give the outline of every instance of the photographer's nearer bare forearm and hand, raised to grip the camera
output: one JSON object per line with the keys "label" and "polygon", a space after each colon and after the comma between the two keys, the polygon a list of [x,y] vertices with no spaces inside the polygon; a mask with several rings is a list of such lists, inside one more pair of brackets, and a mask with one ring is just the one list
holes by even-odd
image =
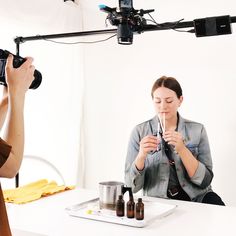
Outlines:
{"label": "photographer's nearer bare forearm and hand, raised to grip the camera", "polygon": [[13,56],[6,64],[6,82],[8,85],[8,114],[4,140],[12,146],[10,155],[0,168],[1,177],[14,177],[21,165],[24,151],[24,102],[25,93],[33,81],[34,66],[32,58],[19,68],[13,68]]}

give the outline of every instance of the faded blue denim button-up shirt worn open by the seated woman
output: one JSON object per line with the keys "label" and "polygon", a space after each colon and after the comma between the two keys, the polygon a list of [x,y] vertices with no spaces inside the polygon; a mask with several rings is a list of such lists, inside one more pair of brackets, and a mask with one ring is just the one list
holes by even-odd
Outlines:
{"label": "faded blue denim button-up shirt worn open by the seated woman", "polygon": [[[134,193],[142,189],[144,195],[167,198],[170,166],[163,148],[147,155],[142,171],[139,171],[134,164],[141,139],[147,135],[157,134],[157,122],[157,117],[154,117],[133,129],[125,163],[125,183],[132,187]],[[186,147],[199,161],[194,176],[190,178],[179,155],[172,148],[178,181],[192,201],[201,202],[204,195],[212,191],[210,185],[213,178],[212,159],[207,133],[202,124],[181,116],[179,116],[178,132],[182,134]]]}

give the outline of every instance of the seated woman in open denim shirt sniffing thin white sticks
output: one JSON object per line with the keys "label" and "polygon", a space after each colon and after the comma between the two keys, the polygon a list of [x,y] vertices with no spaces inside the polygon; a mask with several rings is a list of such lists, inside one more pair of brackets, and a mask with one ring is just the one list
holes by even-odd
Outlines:
{"label": "seated woman in open denim shirt sniffing thin white sticks", "polygon": [[157,115],[131,134],[126,184],[151,197],[225,205],[211,188],[212,159],[204,126],[178,113],[183,101],[178,81],[159,78],[151,95]]}

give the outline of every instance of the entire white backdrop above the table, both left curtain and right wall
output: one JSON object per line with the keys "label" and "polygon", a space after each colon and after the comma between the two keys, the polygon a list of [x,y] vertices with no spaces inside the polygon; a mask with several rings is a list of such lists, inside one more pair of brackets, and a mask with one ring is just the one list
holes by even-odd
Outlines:
{"label": "entire white backdrop above the table, both left curtain and right wall", "polygon": [[[98,0],[80,0],[79,7],[56,0],[0,2],[0,27],[5,27],[1,48],[9,50],[14,50],[10,40],[16,35],[105,28],[106,14],[98,10]],[[118,0],[102,3],[114,7]],[[159,23],[236,15],[233,0],[134,0],[134,7],[155,9],[152,16]],[[148,32],[135,35],[132,46],[118,45],[116,38],[84,46],[23,44],[22,53],[33,55],[44,74],[42,87],[27,100],[26,152],[49,159],[67,182],[97,189],[99,181],[122,181],[130,132],[154,115],[152,84],[162,75],[174,76],[183,87],[182,116],[202,122],[208,131],[213,188],[226,204],[236,206],[234,24],[232,29],[232,35],[204,38],[173,30]]]}

